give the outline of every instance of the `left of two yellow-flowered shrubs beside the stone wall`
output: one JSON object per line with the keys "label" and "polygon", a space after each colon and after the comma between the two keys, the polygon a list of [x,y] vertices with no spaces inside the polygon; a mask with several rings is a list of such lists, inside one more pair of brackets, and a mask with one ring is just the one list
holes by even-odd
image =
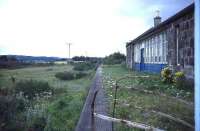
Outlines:
{"label": "left of two yellow-flowered shrubs beside the stone wall", "polygon": [[169,69],[169,67],[166,67],[161,71],[161,77],[162,77],[163,82],[166,82],[166,83],[173,82],[172,71]]}

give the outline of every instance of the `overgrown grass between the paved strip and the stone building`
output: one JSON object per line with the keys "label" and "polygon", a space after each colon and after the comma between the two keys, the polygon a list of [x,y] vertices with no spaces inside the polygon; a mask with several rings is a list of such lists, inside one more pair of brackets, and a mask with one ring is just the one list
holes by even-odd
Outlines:
{"label": "overgrown grass between the paved strip and the stone building", "polygon": [[[164,84],[159,74],[131,71],[121,65],[103,66],[103,83],[110,101],[110,115],[113,111],[116,80],[124,76],[144,75],[150,77],[126,78],[119,82],[115,117],[167,131],[194,130],[158,113],[162,112],[194,126],[194,106],[191,104],[194,92],[191,87],[177,89],[173,84]],[[124,124],[114,124],[114,127],[120,131],[137,130]]]}

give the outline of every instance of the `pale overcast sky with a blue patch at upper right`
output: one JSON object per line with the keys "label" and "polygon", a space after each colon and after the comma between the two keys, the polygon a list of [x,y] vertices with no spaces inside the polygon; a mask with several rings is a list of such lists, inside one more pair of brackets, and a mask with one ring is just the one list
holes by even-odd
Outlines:
{"label": "pale overcast sky with a blue patch at upper right", "polygon": [[193,0],[0,0],[0,55],[104,57]]}

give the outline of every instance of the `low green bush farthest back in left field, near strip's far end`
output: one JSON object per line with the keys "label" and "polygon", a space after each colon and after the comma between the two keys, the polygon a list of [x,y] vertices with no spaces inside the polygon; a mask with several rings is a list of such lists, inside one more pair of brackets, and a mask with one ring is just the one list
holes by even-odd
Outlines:
{"label": "low green bush farthest back in left field, near strip's far end", "polygon": [[95,68],[95,64],[91,62],[81,62],[81,63],[74,63],[74,70],[76,71],[87,71]]}

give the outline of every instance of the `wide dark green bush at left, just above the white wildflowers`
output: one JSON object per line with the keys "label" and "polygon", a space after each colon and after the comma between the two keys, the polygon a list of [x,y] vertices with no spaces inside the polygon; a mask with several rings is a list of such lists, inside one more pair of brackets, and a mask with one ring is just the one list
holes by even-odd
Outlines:
{"label": "wide dark green bush at left, just above the white wildflowers", "polygon": [[15,93],[22,95],[29,100],[39,96],[45,96],[47,94],[52,94],[52,88],[49,86],[48,82],[35,81],[35,80],[26,80],[20,81],[15,86]]}

